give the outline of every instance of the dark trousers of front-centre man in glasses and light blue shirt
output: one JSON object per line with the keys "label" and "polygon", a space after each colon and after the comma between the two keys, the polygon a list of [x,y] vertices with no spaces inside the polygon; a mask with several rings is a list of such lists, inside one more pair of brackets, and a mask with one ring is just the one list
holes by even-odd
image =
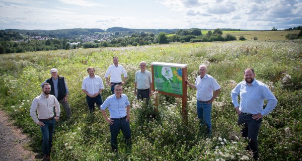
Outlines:
{"label": "dark trousers of front-centre man in glasses and light blue shirt", "polygon": [[126,120],[126,118],[112,119],[112,120],[114,120],[113,125],[109,125],[110,133],[111,133],[112,151],[117,152],[117,135],[120,130],[122,130],[122,133],[125,137],[126,147],[130,147],[131,146],[131,130],[130,130],[129,122]]}

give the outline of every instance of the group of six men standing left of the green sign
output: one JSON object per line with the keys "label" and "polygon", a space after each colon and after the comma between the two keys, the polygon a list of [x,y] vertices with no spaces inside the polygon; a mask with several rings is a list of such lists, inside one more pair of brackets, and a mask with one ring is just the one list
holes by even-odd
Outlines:
{"label": "group of six men standing left of the green sign", "polygon": [[[152,95],[152,76],[146,70],[146,62],[139,63],[140,69],[135,74],[135,92],[137,99],[148,100]],[[130,130],[130,103],[128,97],[122,94],[122,85],[127,80],[127,72],[122,65],[118,64],[118,57],[113,57],[113,64],[110,65],[105,73],[107,85],[110,87],[112,95],[103,103],[101,93],[104,90],[102,78],[95,75],[95,69],[87,69],[88,76],[83,79],[82,91],[86,94],[87,104],[90,112],[95,111],[95,104],[100,107],[106,122],[108,122],[111,132],[112,150],[117,152],[117,136],[121,130],[125,136],[127,147],[131,145]],[[60,117],[60,105],[64,107],[67,120],[71,117],[71,109],[68,104],[68,87],[65,78],[58,75],[56,68],[50,69],[51,77],[41,84],[42,94],[36,97],[30,109],[30,116],[34,122],[40,126],[43,138],[43,160],[50,160],[52,146],[52,135],[55,129],[55,121]],[[122,82],[121,74],[124,75]],[[110,75],[110,82],[108,76]],[[136,92],[137,90],[137,92]],[[106,108],[109,109],[110,118],[106,115]],[[54,113],[55,111],[55,113]],[[38,117],[36,115],[38,113]]]}

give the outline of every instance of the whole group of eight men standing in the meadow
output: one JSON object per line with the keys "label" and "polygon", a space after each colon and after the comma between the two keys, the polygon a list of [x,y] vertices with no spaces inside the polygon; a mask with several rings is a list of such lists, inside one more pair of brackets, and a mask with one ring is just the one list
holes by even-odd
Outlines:
{"label": "whole group of eight men standing in the meadow", "polygon": [[[95,75],[93,67],[87,69],[89,75],[83,80],[82,91],[86,94],[90,112],[94,112],[95,104],[100,108],[104,119],[109,124],[112,150],[117,152],[117,136],[120,130],[125,137],[126,147],[131,146],[130,103],[128,97],[123,94],[122,88],[127,80],[127,72],[122,65],[118,64],[117,56],[113,57],[113,63],[105,73],[106,83],[110,86],[112,95],[104,103],[101,96],[104,89],[103,81],[100,76]],[[135,73],[134,95],[141,100],[148,100],[152,96],[152,73],[146,70],[146,65],[146,62],[141,61],[139,63],[140,70]],[[50,70],[52,77],[41,85],[42,94],[33,100],[30,109],[31,117],[41,128],[43,159],[45,160],[50,159],[55,121],[58,121],[60,116],[59,104],[64,107],[67,119],[71,117],[71,110],[67,102],[69,91],[64,77],[58,76],[57,72],[55,68]],[[124,75],[123,81],[121,74]],[[187,80],[185,82],[197,91],[197,116],[200,125],[205,124],[206,133],[211,136],[211,106],[220,92],[220,86],[215,78],[207,74],[207,67],[204,64],[199,66],[199,75],[196,77],[194,85]],[[262,118],[275,108],[277,100],[263,83],[256,81],[255,72],[252,68],[244,70],[244,81],[232,90],[231,95],[232,102],[239,115],[238,124],[244,125],[242,135],[250,139],[247,148],[252,150],[254,159],[257,159],[257,136]],[[240,95],[240,104],[238,103],[238,95]],[[263,109],[264,99],[268,101],[265,109]],[[110,117],[105,112],[106,108],[109,110]]]}

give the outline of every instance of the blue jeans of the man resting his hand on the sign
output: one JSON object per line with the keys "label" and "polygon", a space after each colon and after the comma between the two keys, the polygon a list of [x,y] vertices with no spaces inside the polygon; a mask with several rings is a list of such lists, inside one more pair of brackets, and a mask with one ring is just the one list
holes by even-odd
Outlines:
{"label": "blue jeans of the man resting his hand on the sign", "polygon": [[212,104],[201,103],[197,101],[197,117],[200,120],[200,125],[206,124],[207,134],[210,136],[212,131],[212,122],[211,122],[211,109]]}

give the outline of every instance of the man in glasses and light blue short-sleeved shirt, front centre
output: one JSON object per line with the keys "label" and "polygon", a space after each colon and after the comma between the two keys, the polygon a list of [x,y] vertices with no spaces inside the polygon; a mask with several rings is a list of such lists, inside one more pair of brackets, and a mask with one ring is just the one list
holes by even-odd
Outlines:
{"label": "man in glasses and light blue short-sleeved shirt, front centre", "polygon": [[[123,93],[121,85],[114,86],[114,94],[107,97],[104,103],[100,106],[100,110],[109,124],[111,133],[112,151],[117,152],[117,135],[122,130],[125,137],[126,148],[131,146],[131,130],[130,130],[130,103],[128,97]],[[110,118],[105,112],[109,110]]]}

